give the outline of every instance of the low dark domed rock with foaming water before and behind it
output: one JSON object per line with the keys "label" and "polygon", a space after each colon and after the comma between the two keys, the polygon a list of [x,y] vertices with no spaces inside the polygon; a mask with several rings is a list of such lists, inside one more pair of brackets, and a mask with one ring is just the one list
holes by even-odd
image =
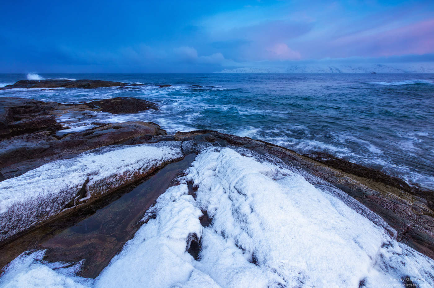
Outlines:
{"label": "low dark domed rock with foaming water before and behind it", "polygon": [[137,113],[149,109],[158,110],[158,107],[155,103],[131,97],[116,97],[112,99],[103,99],[92,101],[89,103],[82,103],[81,105],[85,105],[95,110],[109,112],[113,114]]}

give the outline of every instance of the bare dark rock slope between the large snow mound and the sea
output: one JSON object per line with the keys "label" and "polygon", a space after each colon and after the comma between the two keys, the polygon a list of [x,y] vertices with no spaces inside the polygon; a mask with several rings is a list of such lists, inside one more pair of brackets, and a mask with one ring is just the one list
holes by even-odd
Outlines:
{"label": "bare dark rock slope between the large snow mound and the sea", "polygon": [[266,159],[271,157],[276,165],[297,168],[311,184],[319,185],[321,189],[325,184],[331,184],[335,188],[327,188],[330,193],[343,191],[354,197],[395,229],[398,241],[434,259],[434,209],[430,204],[434,191],[410,187],[400,179],[342,159],[322,155],[318,158],[321,162],[318,162],[284,147],[248,137],[198,130],[178,132],[175,140],[183,142],[184,153],[197,152],[195,147],[210,143],[213,146],[240,147]]}

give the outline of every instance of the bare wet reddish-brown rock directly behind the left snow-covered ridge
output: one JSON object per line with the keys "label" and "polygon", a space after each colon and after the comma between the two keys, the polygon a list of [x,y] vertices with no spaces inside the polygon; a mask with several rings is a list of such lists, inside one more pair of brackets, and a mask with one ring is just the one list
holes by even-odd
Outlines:
{"label": "bare wet reddish-brown rock directly behind the left snow-covered ridge", "polygon": [[[166,131],[160,129],[157,124],[141,121],[109,124],[71,133],[60,140],[44,133],[23,134],[0,141],[0,168],[9,167],[9,171],[12,170],[11,173],[3,170],[7,178],[10,178],[9,174],[16,177],[46,162],[53,161],[52,156],[64,158],[90,149],[125,142],[142,135],[165,134]],[[19,170],[15,171],[16,168]]]}

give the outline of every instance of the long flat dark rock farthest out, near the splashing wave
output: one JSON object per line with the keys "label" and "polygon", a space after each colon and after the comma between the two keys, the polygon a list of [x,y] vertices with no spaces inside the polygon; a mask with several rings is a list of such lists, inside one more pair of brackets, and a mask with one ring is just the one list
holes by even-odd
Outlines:
{"label": "long flat dark rock farthest out, near the splashing wave", "polygon": [[6,85],[5,88],[98,88],[127,85],[128,83],[103,81],[103,80],[67,80],[67,79],[46,79],[46,80],[20,80],[15,84]]}

